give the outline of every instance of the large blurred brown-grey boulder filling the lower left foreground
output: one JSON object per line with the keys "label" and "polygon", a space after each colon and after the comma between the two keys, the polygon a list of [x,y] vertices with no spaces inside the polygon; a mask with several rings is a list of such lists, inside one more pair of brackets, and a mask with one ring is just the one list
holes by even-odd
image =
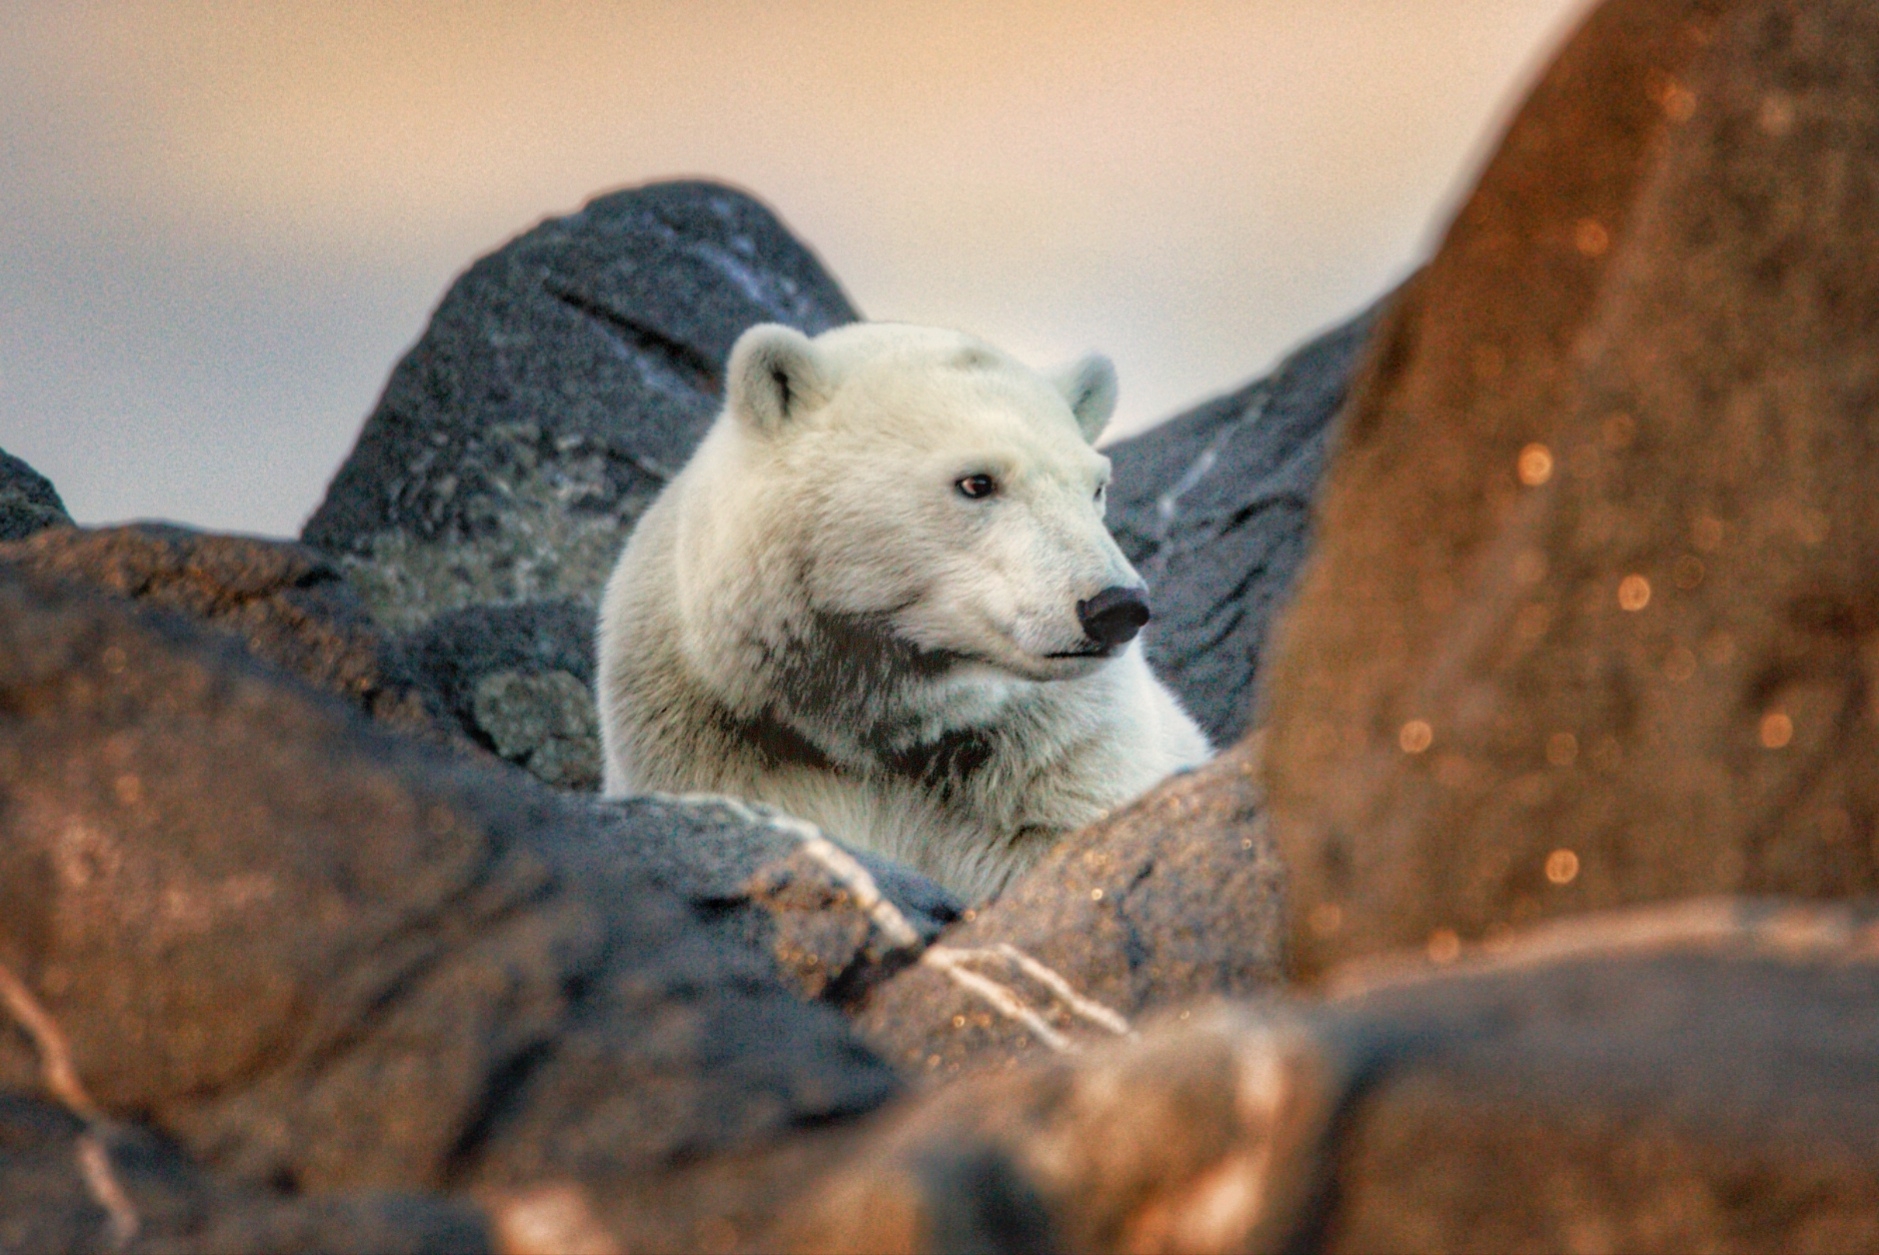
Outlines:
{"label": "large blurred brown-grey boulder filling the lower left foreground", "polygon": [[[896,1092],[661,885],[656,812],[598,832],[605,804],[186,620],[0,569],[0,968],[88,1103],[233,1185],[447,1191],[507,1249],[695,1247],[770,1223]],[[0,1033],[0,1090],[47,1060]]]}

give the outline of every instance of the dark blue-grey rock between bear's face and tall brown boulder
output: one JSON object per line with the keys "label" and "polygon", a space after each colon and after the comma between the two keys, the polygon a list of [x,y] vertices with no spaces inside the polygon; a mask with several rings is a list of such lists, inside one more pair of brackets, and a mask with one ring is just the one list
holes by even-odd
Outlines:
{"label": "dark blue-grey rock between bear's face and tall brown boulder", "polygon": [[1109,528],[1154,594],[1148,659],[1214,744],[1253,714],[1274,614],[1304,562],[1345,383],[1377,310],[1265,380],[1109,449]]}

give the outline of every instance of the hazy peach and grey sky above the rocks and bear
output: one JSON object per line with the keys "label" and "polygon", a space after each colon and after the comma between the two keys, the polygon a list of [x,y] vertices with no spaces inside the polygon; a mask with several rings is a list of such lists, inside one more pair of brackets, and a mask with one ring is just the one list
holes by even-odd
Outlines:
{"label": "hazy peach and grey sky above the rocks and bear", "polygon": [[703,175],[1137,428],[1434,244],[1584,0],[0,0],[0,447],[289,535],[474,257]]}

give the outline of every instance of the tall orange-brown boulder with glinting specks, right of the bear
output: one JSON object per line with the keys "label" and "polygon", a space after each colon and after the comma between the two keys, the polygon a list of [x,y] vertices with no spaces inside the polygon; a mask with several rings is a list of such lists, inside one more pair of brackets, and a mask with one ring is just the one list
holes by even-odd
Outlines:
{"label": "tall orange-brown boulder with glinting specks, right of the bear", "polygon": [[1375,334],[1268,678],[1291,962],[1879,887],[1879,13],[1612,0]]}

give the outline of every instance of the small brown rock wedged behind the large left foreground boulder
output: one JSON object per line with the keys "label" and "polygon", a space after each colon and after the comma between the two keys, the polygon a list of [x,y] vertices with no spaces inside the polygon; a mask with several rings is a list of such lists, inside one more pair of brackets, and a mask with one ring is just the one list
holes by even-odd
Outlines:
{"label": "small brown rock wedged behind the large left foreground boulder", "polygon": [[143,522],[41,532],[0,545],[0,564],[186,614],[380,723],[432,740],[451,735],[396,643],[304,545]]}

